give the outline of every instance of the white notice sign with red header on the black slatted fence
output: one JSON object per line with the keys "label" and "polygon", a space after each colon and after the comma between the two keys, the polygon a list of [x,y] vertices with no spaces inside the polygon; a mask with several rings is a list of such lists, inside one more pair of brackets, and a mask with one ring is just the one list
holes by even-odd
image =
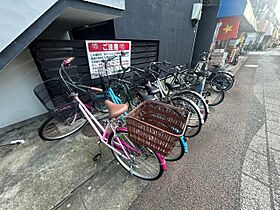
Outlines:
{"label": "white notice sign with red header on the black slatted fence", "polygon": [[[127,68],[130,66],[131,59],[131,42],[130,41],[90,41],[86,40],[87,56],[91,78],[98,78],[100,75],[117,74],[121,71],[119,56],[123,51],[125,53],[122,56],[122,65]],[[113,56],[117,56],[112,61],[107,63],[107,69],[105,69],[102,60],[107,60]]]}

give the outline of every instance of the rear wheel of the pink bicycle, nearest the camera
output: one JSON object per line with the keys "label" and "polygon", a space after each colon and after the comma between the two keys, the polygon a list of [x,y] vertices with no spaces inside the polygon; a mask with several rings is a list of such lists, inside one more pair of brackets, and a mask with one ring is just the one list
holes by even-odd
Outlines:
{"label": "rear wheel of the pink bicycle, nearest the camera", "polygon": [[116,130],[115,135],[113,133],[110,135],[108,143],[124,156],[125,152],[129,155],[129,159],[126,159],[112,150],[116,160],[132,175],[149,181],[162,176],[163,167],[159,155],[133,143],[129,140],[127,131]]}

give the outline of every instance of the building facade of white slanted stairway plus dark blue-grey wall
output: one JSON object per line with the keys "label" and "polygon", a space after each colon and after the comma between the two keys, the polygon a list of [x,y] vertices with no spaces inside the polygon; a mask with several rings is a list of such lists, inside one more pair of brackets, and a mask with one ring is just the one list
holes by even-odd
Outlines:
{"label": "building facade of white slanted stairway plus dark blue-grey wall", "polygon": [[184,64],[201,38],[191,20],[194,3],[200,0],[1,2],[0,25],[13,29],[0,35],[0,128],[46,112],[32,92],[42,82],[28,48],[34,40],[157,40],[159,60]]}

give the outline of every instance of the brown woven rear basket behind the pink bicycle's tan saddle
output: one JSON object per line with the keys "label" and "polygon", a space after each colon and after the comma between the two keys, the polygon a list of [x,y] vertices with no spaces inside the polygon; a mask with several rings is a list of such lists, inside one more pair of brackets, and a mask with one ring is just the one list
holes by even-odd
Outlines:
{"label": "brown woven rear basket behind the pink bicycle's tan saddle", "polygon": [[126,116],[128,136],[168,156],[185,133],[189,112],[158,101],[144,101]]}

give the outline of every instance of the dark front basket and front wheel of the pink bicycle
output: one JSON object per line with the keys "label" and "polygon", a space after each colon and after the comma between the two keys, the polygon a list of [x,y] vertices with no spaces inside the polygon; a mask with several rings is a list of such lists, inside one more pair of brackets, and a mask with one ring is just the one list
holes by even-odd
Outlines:
{"label": "dark front basket and front wheel of the pink bicycle", "polygon": [[[48,110],[49,117],[38,130],[39,137],[45,141],[60,140],[80,130],[86,119],[78,110],[77,103],[65,93],[62,81],[47,80],[34,88],[34,94]],[[92,108],[85,104],[92,110]]]}

